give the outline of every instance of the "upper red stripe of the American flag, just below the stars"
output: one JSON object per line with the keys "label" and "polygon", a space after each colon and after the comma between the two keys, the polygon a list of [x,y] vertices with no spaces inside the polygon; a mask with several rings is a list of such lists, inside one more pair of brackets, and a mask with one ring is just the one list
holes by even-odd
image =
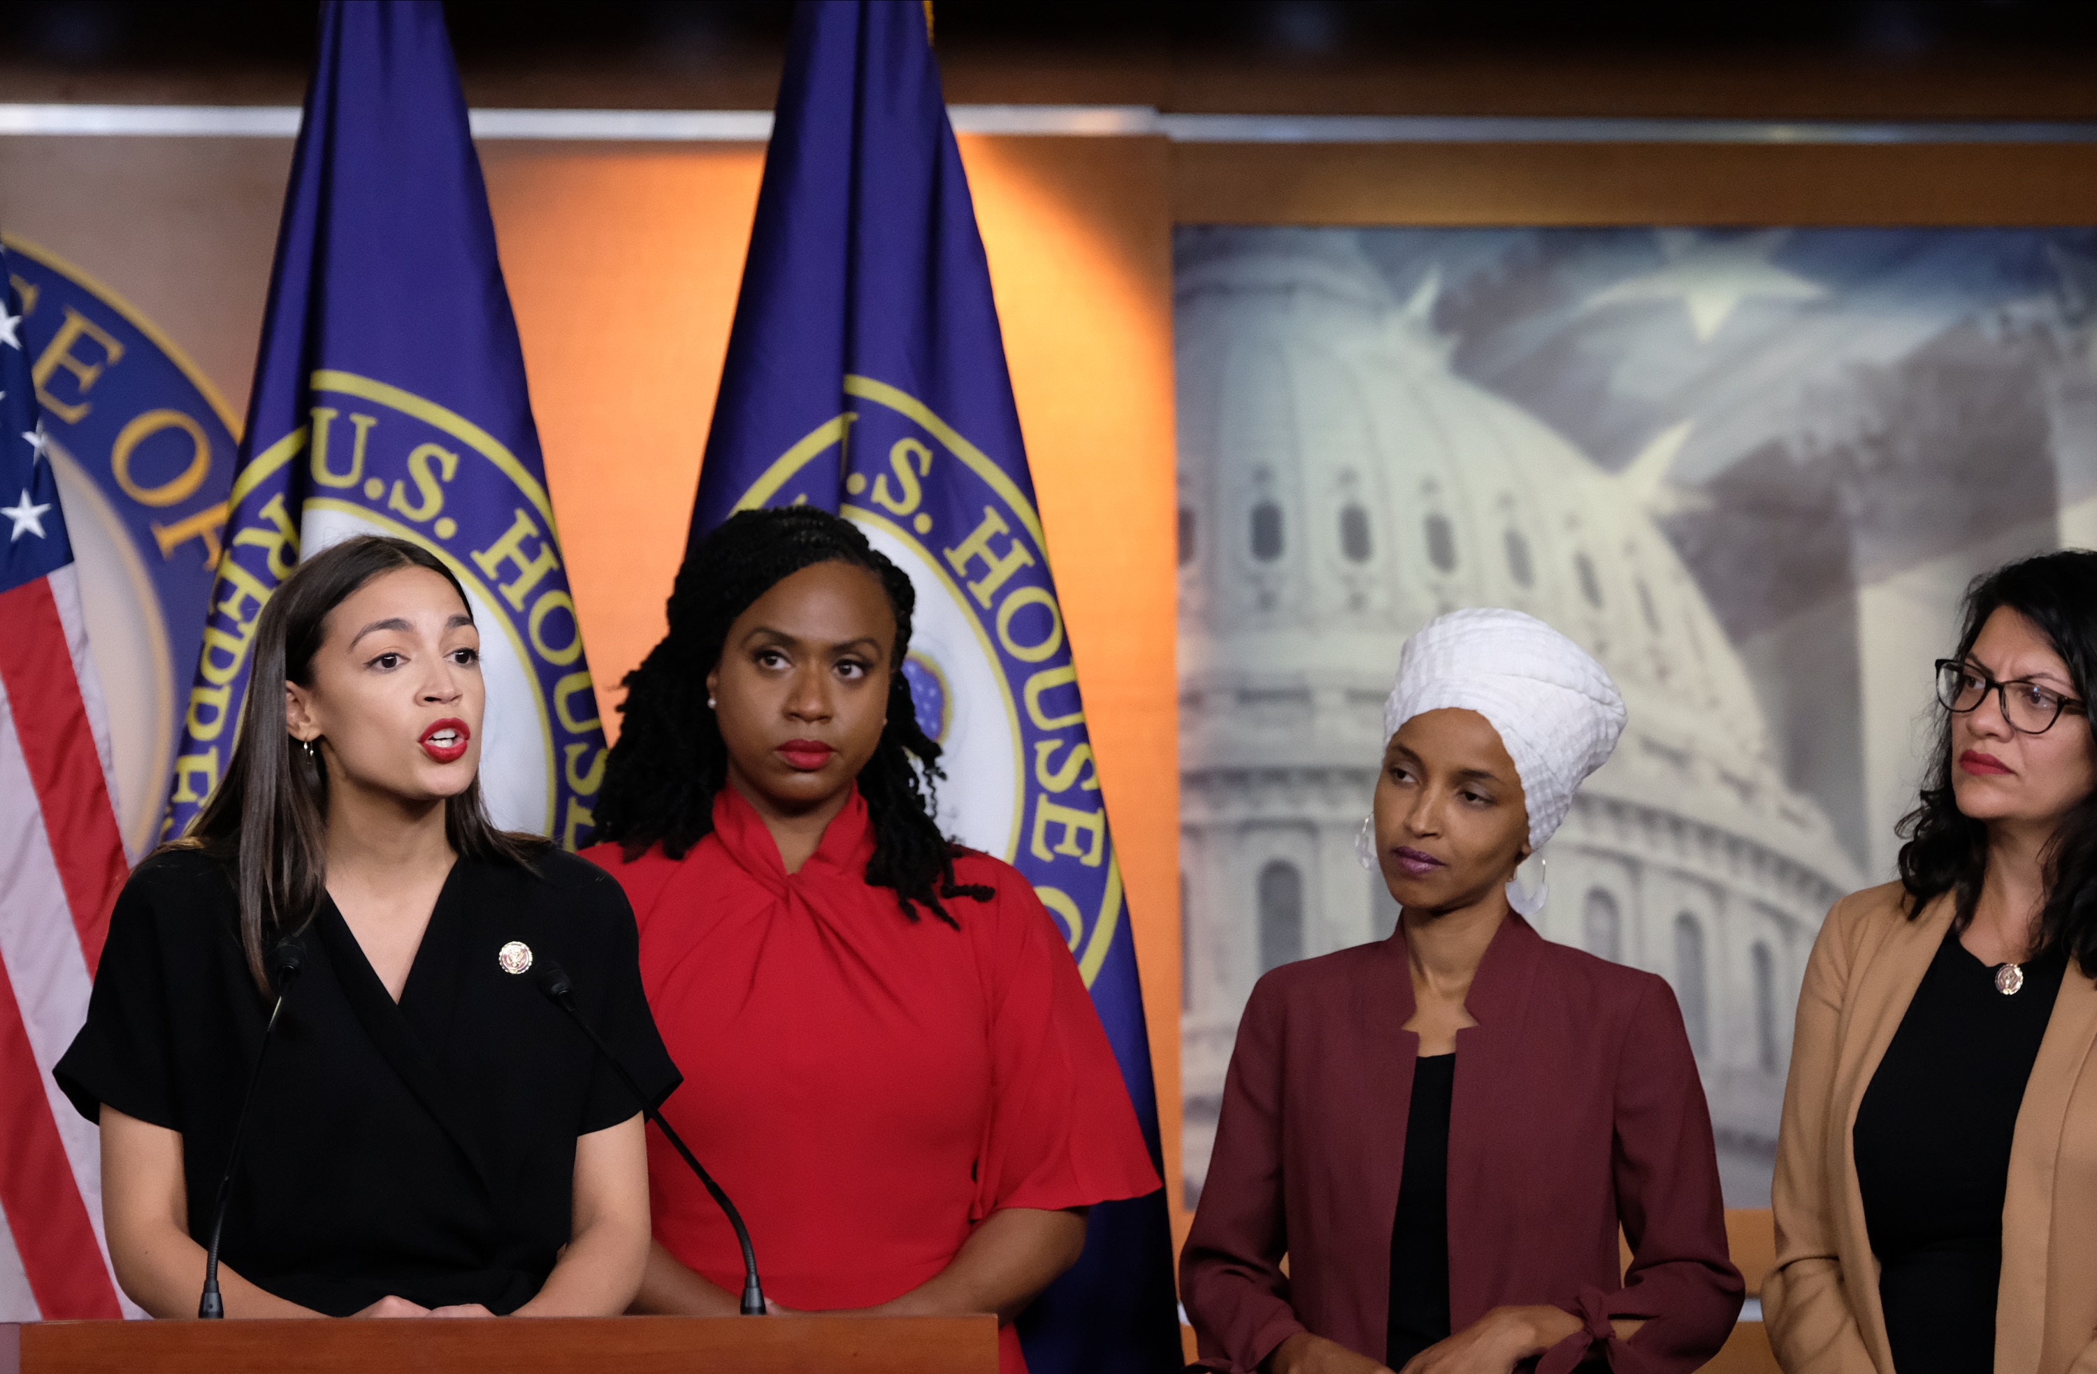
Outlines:
{"label": "upper red stripe of the American flag, just below the stars", "polygon": [[73,908],[80,952],[88,959],[88,973],[94,973],[103,961],[103,936],[109,933],[109,908],[130,877],[130,864],[109,803],[103,755],[88,726],[88,705],[73,675],[65,621],[44,577],[0,592],[0,684],[6,686],[15,734],[36,782],[44,835],[59,860],[65,904]]}

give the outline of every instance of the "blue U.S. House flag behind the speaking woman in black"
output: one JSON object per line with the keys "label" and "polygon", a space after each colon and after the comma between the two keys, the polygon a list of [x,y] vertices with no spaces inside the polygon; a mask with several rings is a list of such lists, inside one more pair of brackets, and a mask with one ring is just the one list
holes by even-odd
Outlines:
{"label": "blue U.S. House flag behind the speaking woman in black", "polygon": [[226,766],[262,604],[359,533],[421,543],[468,589],[495,824],[589,843],[604,732],[436,0],[321,10],[166,833]]}

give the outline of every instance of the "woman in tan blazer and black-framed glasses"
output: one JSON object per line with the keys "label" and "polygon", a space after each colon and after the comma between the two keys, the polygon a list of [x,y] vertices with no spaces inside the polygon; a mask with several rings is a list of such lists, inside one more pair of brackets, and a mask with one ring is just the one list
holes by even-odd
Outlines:
{"label": "woman in tan blazer and black-framed glasses", "polygon": [[2097,554],[1967,594],[1900,881],[1799,992],[1761,1288],[1789,1374],[2097,1370]]}

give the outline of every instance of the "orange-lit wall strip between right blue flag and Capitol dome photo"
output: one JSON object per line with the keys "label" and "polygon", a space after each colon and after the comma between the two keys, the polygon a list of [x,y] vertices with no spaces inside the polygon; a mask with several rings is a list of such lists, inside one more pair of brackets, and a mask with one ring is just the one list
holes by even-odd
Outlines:
{"label": "orange-lit wall strip between right blue flag and Capitol dome photo", "polygon": [[960,151],[1128,881],[1166,1196],[1183,1223],[1168,149],[1164,138],[963,138]]}

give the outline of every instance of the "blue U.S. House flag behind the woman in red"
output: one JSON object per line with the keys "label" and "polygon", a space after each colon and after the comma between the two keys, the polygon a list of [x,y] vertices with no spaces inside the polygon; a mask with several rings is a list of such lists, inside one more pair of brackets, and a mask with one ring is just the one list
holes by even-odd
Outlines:
{"label": "blue U.S. House flag behind the woman in red", "polygon": [[[1061,921],[1158,1150],[1122,875],[1048,575],[975,206],[918,4],[801,4],[692,512],[843,512],[916,583],[939,824]],[[1181,1368],[1164,1191],[1093,1208],[1019,1319],[1034,1374]]]}

